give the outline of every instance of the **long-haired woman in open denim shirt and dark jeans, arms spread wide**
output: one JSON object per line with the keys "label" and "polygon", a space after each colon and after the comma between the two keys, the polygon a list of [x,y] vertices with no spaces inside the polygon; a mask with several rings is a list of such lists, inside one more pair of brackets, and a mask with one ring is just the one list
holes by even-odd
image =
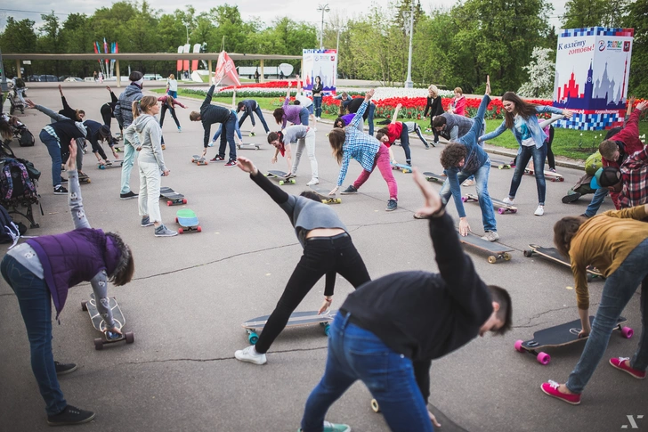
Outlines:
{"label": "long-haired woman in open denim shirt and dark jeans, arms spread wide", "polygon": [[505,118],[501,125],[490,134],[479,137],[479,143],[488,141],[500,134],[506,129],[511,129],[520,149],[517,151],[517,161],[513,179],[511,180],[511,189],[508,196],[503,200],[506,204],[513,205],[515,193],[520,187],[524,168],[533,158],[534,174],[536,176],[536,186],[538,187],[538,208],[533,213],[535,216],[545,214],[545,194],[547,184],[545,183],[545,158],[547,157],[547,134],[542,130],[538,122],[538,114],[541,112],[551,112],[562,114],[566,118],[571,118],[570,110],[561,110],[559,108],[549,107],[547,105],[537,105],[523,101],[520,96],[513,92],[506,92],[502,96],[502,105],[504,105]]}

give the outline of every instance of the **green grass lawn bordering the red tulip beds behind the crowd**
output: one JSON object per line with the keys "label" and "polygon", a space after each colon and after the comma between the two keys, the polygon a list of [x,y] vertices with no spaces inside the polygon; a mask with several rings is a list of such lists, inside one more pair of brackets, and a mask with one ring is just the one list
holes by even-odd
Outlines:
{"label": "green grass lawn bordering the red tulip beds behind the crowd", "polygon": [[[165,90],[161,88],[152,91],[155,93],[165,93]],[[203,97],[198,94],[184,93],[182,91],[182,88],[178,89],[178,94],[186,97],[192,97],[194,99],[203,99]],[[212,100],[214,102],[231,104],[231,97],[215,97]],[[275,108],[279,108],[282,105],[282,100],[277,97],[257,97],[255,98],[255,101],[259,104],[262,110],[274,110]],[[322,112],[321,117],[333,121],[337,116]],[[379,120],[380,119],[377,119],[377,121]],[[405,121],[412,120],[405,119]],[[414,121],[416,121],[424,130],[426,127],[430,126],[430,120],[427,118]],[[486,132],[488,133],[492,130],[495,130],[501,124],[501,122],[502,120],[486,120]],[[377,129],[379,127],[379,125],[376,125]],[[554,134],[554,143],[551,144],[551,150],[554,151],[554,154],[556,156],[585,160],[587,159],[587,156],[598,150],[598,144],[603,141],[605,133],[606,131],[578,131],[573,129],[556,128]],[[647,133],[648,122],[640,122],[639,134],[645,135]],[[642,138],[642,141],[645,142],[645,136]],[[518,144],[510,131],[506,131],[504,134],[499,135],[496,139],[490,140],[489,144],[497,145],[498,147],[504,147],[506,149],[517,149],[518,147]]]}

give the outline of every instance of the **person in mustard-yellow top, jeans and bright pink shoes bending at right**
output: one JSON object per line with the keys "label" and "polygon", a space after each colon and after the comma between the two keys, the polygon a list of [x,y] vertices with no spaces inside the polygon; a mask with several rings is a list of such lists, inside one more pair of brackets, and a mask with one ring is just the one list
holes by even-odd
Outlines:
{"label": "person in mustard-yellow top, jeans and bright pink shoes bending at right", "polygon": [[[642,221],[646,216],[648,204],[608,211],[590,219],[566,216],[555,223],[555,247],[571,259],[582,328],[579,338],[589,338],[579,363],[565,384],[555,381],[542,384],[540,388],[547,395],[574,405],[580,403],[580,394],[605,354],[621,312],[640,284],[642,331],[639,346],[632,360],[612,358],[610,365],[636,379],[645,379],[648,369],[648,224]],[[607,278],[591,326],[587,265],[595,266]]]}

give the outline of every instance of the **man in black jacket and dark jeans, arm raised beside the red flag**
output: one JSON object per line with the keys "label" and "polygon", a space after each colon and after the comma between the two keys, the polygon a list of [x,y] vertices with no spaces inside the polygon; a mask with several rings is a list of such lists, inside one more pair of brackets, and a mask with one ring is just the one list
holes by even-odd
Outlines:
{"label": "man in black jacket and dark jeans, arm raised beside the red flag", "polygon": [[205,129],[205,137],[203,145],[203,157],[207,154],[207,146],[209,145],[209,138],[211,138],[212,125],[214,123],[222,123],[223,130],[221,131],[221,145],[218,147],[218,154],[212,162],[220,162],[225,160],[225,146],[230,144],[230,160],[225,164],[225,167],[236,167],[236,144],[234,143],[234,131],[236,129],[236,114],[235,111],[228,110],[224,107],[212,105],[212,94],[216,86],[209,87],[205,101],[200,105],[200,112],[191,111],[189,119],[191,121],[202,121],[203,129]]}

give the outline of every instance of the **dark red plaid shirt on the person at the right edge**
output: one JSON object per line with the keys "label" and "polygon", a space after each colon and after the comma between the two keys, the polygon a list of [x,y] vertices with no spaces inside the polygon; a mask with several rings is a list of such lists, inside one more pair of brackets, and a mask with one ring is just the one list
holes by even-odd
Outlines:
{"label": "dark red plaid shirt on the person at the right edge", "polygon": [[619,194],[620,208],[648,203],[648,147],[628,156],[620,170],[623,183]]}

